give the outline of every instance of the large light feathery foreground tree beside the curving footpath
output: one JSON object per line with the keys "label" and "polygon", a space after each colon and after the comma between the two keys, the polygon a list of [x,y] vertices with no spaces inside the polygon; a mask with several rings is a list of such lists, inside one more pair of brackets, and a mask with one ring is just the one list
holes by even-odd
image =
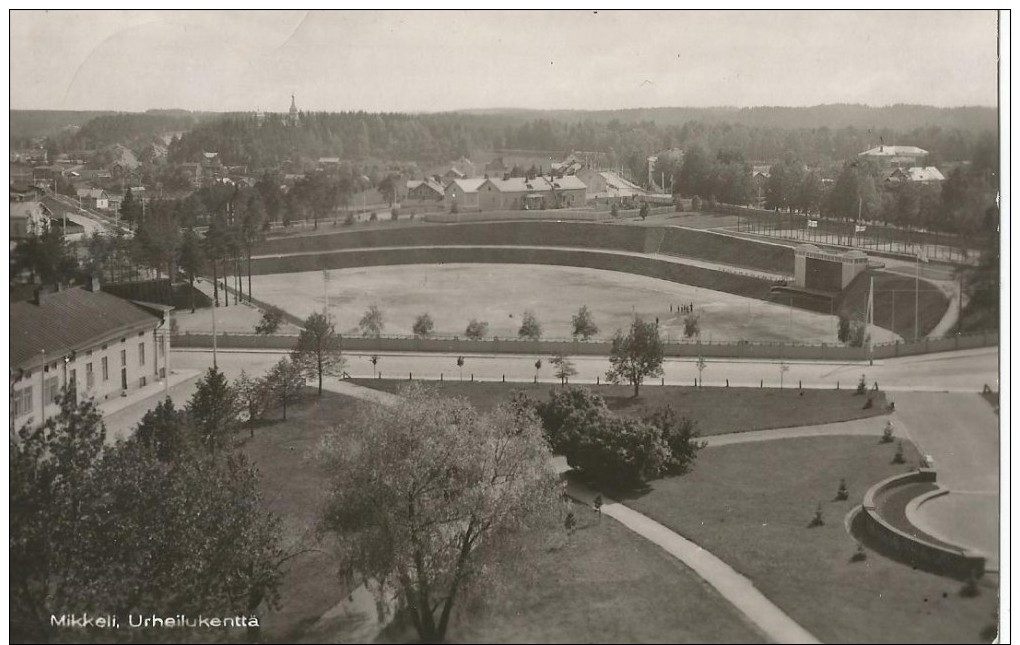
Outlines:
{"label": "large light feathery foreground tree beside the curving footpath", "polygon": [[[555,514],[557,478],[532,415],[488,414],[420,386],[393,406],[366,406],[327,441],[333,474],[322,527],[343,575],[397,590],[422,642],[442,642],[487,564],[509,557]],[[350,449],[351,435],[355,449]]]}

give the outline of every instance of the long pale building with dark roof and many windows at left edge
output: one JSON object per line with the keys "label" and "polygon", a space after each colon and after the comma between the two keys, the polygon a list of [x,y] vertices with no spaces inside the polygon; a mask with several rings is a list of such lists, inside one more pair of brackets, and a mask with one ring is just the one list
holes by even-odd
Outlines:
{"label": "long pale building with dark roof and many windows at left edge", "polygon": [[38,426],[66,387],[103,401],[168,376],[171,307],[89,287],[10,305],[10,423]]}

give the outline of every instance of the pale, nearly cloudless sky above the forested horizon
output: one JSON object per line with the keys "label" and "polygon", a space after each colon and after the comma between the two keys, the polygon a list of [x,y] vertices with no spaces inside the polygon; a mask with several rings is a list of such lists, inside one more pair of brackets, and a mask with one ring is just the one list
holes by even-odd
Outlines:
{"label": "pale, nearly cloudless sky above the forested horizon", "polygon": [[12,109],[998,101],[994,11],[10,12]]}

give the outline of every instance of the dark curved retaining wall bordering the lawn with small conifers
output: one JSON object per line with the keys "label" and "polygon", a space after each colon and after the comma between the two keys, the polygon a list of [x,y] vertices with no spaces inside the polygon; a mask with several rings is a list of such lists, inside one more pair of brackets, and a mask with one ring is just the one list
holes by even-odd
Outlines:
{"label": "dark curved retaining wall bordering the lawn with small conifers", "polygon": [[[969,549],[954,548],[936,544],[920,536],[910,535],[886,522],[878,508],[877,501],[890,491],[914,484],[934,484],[935,472],[921,468],[913,473],[897,475],[875,484],[864,495],[863,522],[861,528],[865,536],[876,541],[883,549],[892,552],[899,558],[912,566],[940,576],[967,579],[971,576],[980,578],[984,575],[985,558]],[[945,489],[937,489],[918,496],[908,505],[920,504],[932,496],[945,494]],[[920,530],[918,530],[919,533]],[[923,536],[924,534],[921,533]]]}

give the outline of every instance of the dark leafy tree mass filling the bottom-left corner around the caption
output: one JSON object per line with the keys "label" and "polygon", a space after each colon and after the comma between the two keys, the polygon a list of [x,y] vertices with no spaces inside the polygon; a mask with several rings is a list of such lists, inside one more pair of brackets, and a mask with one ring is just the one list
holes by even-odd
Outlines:
{"label": "dark leafy tree mass filling the bottom-left corner around the caption", "polygon": [[64,640],[50,616],[92,607],[126,625],[129,613],[167,607],[251,615],[276,606],[286,556],[257,473],[241,455],[193,452],[198,443],[163,450],[168,443],[146,438],[156,426],[195,431],[181,428],[172,404],[159,408],[141,436],[104,445],[95,404],[65,395],[58,415],[11,436],[13,640]]}

